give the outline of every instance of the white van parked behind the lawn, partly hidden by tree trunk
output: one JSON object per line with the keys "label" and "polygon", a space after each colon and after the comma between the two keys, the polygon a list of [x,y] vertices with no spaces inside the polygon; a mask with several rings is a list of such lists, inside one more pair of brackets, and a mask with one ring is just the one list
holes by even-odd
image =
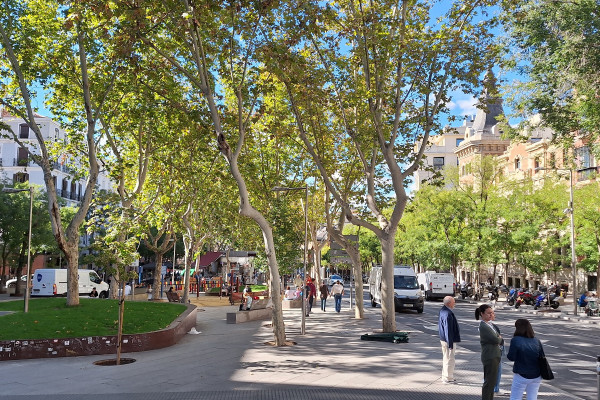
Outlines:
{"label": "white van parked behind the lawn, partly hidden by tree trunk", "polygon": [[[96,288],[98,297],[108,297],[108,283],[102,281],[96,271],[79,269],[79,295],[89,296]],[[32,296],[66,296],[67,295],[67,270],[66,269],[38,269],[33,275]]]}

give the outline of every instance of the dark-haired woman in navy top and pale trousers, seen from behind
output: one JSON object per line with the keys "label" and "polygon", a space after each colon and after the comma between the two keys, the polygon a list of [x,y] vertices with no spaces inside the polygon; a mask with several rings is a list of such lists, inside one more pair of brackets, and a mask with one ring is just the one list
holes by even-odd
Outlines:
{"label": "dark-haired woman in navy top and pale trousers, seen from behind", "polygon": [[533,327],[528,320],[515,321],[515,333],[510,341],[507,357],[514,361],[513,383],[510,388],[510,400],[521,400],[527,392],[527,400],[536,400],[542,376],[538,363],[539,357],[545,357],[542,342],[535,337]]}

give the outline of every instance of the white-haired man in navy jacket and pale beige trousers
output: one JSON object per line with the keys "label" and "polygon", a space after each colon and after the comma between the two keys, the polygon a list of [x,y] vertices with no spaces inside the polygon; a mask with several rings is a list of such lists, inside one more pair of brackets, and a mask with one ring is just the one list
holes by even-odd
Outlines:
{"label": "white-haired man in navy jacket and pale beige trousers", "polygon": [[456,343],[460,342],[460,330],[458,321],[452,312],[456,300],[452,296],[444,297],[444,305],[440,310],[438,319],[438,330],[440,332],[440,343],[442,345],[442,382],[454,383],[454,355]]}

